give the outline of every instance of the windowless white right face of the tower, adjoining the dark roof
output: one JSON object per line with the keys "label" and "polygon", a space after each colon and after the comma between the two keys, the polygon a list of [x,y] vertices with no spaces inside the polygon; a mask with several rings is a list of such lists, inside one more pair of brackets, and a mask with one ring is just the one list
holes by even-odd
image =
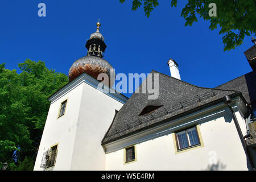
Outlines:
{"label": "windowless white right face of the tower, adjoining the dark roof", "polygon": [[105,152],[101,140],[122,103],[83,85],[79,121],[72,155],[71,170],[105,170]]}

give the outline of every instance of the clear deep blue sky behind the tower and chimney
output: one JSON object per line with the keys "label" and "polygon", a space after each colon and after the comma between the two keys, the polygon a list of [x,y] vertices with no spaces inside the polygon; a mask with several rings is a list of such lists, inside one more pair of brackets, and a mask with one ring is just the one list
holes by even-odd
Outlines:
{"label": "clear deep blue sky behind the tower and chimney", "polygon": [[[38,16],[38,4],[46,3],[47,16]],[[199,19],[192,27],[180,17],[185,2],[171,8],[160,1],[150,18],[143,8],[131,11],[131,1],[41,0],[0,2],[0,63],[18,69],[26,59],[45,61],[47,68],[68,75],[74,61],[86,55],[85,43],[96,31],[108,46],[104,59],[116,73],[150,73],[152,69],[170,75],[169,58],[179,64],[181,80],[214,88],[251,71],[243,54],[253,46],[245,37],[242,46],[224,52],[218,30]],[[126,94],[130,96],[130,94]]]}

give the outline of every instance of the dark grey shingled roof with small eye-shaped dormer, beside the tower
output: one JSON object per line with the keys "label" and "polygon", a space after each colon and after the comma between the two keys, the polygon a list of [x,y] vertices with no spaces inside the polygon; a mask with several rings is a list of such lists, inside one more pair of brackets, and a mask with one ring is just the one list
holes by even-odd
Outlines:
{"label": "dark grey shingled roof with small eye-shaped dormer, beside the tower", "polygon": [[[152,71],[151,73],[159,72]],[[139,86],[140,89],[141,86]],[[220,101],[226,95],[233,94],[238,94],[238,92],[202,88],[159,73],[158,99],[148,100],[150,94],[134,93],[115,115],[112,125],[102,139],[102,144],[162,124],[166,122],[166,119],[179,117],[181,114],[189,113],[201,106]],[[151,114],[139,116],[144,107],[150,105],[162,107]]]}

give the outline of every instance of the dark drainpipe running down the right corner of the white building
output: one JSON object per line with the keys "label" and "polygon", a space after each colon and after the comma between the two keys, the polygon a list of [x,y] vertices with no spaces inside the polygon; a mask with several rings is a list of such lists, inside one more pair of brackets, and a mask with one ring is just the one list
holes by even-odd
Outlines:
{"label": "dark drainpipe running down the right corner of the white building", "polygon": [[[225,97],[224,97],[224,102],[225,102],[226,105],[228,105],[229,110],[231,111],[231,113],[232,113],[232,115],[233,115],[234,124],[236,125],[238,135],[239,135],[240,140],[241,140],[241,142],[242,142],[243,150],[245,150],[245,154],[246,154],[247,158],[249,159],[251,168],[253,168],[253,171],[255,171],[255,167],[254,167],[253,162],[252,162],[252,160],[251,160],[250,152],[249,152],[249,150],[248,150],[248,148],[247,148],[245,139],[244,139],[244,137],[243,137],[242,131],[241,131],[240,126],[239,126],[239,124],[238,124],[236,114],[234,113],[234,110],[232,109],[232,106],[230,106],[230,103],[232,102],[232,101],[231,101],[231,98],[230,98],[229,96],[225,96]],[[245,135],[245,136],[246,136],[246,135]]]}

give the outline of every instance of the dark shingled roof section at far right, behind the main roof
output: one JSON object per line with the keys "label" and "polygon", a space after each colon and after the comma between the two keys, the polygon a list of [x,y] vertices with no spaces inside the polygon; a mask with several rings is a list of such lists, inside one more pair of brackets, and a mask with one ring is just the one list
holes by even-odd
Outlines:
{"label": "dark shingled roof section at far right, behind the main roof", "polygon": [[256,71],[242,75],[234,80],[226,82],[216,89],[237,90],[242,93],[248,104],[256,106]]}

